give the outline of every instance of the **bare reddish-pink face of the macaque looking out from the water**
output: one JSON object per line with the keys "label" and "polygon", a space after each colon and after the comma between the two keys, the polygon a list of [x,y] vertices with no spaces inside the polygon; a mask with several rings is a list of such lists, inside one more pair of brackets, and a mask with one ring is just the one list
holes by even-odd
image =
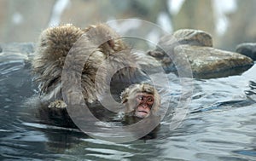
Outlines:
{"label": "bare reddish-pink face of the macaque looking out from the water", "polygon": [[147,93],[138,93],[136,95],[137,108],[135,115],[138,118],[146,118],[149,116],[151,108],[154,104],[154,95]]}

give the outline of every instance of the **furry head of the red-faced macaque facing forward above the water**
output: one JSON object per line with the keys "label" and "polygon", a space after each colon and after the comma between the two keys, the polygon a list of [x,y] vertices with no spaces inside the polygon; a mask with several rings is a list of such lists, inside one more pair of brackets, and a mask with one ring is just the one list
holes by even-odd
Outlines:
{"label": "furry head of the red-faced macaque facing forward above the water", "polygon": [[121,101],[125,106],[125,113],[138,118],[157,115],[160,108],[160,95],[148,83],[131,85],[121,93]]}

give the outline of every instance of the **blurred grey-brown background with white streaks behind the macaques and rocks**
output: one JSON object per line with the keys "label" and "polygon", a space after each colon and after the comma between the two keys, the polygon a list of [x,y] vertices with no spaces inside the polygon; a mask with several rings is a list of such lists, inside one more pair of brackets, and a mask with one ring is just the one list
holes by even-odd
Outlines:
{"label": "blurred grey-brown background with white streaks behind the macaques and rocks", "polygon": [[235,50],[256,42],[255,15],[255,0],[0,0],[0,43],[37,42],[48,26],[137,18],[167,32],[203,30],[215,48]]}

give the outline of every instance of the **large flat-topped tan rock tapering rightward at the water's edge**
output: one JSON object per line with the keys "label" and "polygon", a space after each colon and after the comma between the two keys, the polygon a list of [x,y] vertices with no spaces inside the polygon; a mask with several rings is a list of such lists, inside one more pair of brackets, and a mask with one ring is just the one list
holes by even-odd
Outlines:
{"label": "large flat-topped tan rock tapering rightward at the water's edge", "polygon": [[[219,78],[239,74],[253,66],[253,60],[238,53],[190,45],[179,45],[173,58],[187,58],[194,78]],[[177,69],[183,68],[183,60],[175,60]]]}

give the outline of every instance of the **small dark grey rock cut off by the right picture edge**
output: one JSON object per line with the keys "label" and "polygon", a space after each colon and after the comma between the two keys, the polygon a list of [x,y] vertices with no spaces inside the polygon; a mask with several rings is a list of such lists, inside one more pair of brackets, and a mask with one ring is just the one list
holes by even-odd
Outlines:
{"label": "small dark grey rock cut off by the right picture edge", "polygon": [[256,43],[241,43],[236,46],[236,52],[256,60]]}

